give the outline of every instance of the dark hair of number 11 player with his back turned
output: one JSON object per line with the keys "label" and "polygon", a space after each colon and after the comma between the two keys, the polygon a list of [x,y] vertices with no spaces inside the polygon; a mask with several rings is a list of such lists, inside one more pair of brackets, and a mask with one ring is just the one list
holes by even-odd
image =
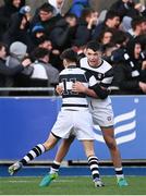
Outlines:
{"label": "dark hair of number 11 player with his back turned", "polygon": [[71,62],[77,62],[77,52],[75,52],[72,48],[68,48],[61,53],[60,58],[62,60],[66,59]]}

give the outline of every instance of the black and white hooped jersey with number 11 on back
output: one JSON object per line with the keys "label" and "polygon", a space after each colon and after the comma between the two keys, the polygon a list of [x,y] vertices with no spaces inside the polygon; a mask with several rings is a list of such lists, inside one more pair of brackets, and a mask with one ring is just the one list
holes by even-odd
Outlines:
{"label": "black and white hooped jersey with number 11 on back", "polygon": [[81,68],[73,65],[64,69],[59,76],[59,86],[63,87],[62,108],[64,109],[81,110],[88,108],[86,95],[72,91],[72,85],[75,82],[81,82],[86,87],[93,87],[97,84],[96,78]]}

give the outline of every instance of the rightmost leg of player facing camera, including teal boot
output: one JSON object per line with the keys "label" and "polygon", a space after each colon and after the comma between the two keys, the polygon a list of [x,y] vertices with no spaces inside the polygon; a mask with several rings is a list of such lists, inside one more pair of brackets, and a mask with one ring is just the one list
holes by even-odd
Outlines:
{"label": "rightmost leg of player facing camera, including teal boot", "polygon": [[111,159],[114,166],[115,175],[118,180],[119,186],[126,186],[127,183],[124,179],[123,169],[122,169],[122,160],[120,156],[120,151],[114,138],[114,128],[113,126],[110,127],[100,127],[102,131],[104,139],[109,148]]}

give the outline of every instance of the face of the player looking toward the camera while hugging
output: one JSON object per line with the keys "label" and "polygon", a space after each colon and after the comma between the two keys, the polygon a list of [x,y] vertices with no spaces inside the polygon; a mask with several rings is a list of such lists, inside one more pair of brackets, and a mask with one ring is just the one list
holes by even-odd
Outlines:
{"label": "face of the player looking toward the camera while hugging", "polygon": [[87,61],[90,66],[98,66],[101,62],[101,52],[100,51],[94,51],[88,48],[86,50],[86,57],[87,57]]}

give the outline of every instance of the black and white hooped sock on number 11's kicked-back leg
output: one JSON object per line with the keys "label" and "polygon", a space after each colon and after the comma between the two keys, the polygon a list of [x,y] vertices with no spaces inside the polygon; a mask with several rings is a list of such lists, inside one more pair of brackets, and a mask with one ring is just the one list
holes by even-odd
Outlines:
{"label": "black and white hooped sock on number 11's kicked-back leg", "polygon": [[41,154],[44,154],[45,147],[44,145],[39,144],[37,146],[35,146],[25,157],[23,157],[23,159],[20,161],[22,162],[23,166],[27,164],[31,160],[35,159],[36,157],[40,156]]}

